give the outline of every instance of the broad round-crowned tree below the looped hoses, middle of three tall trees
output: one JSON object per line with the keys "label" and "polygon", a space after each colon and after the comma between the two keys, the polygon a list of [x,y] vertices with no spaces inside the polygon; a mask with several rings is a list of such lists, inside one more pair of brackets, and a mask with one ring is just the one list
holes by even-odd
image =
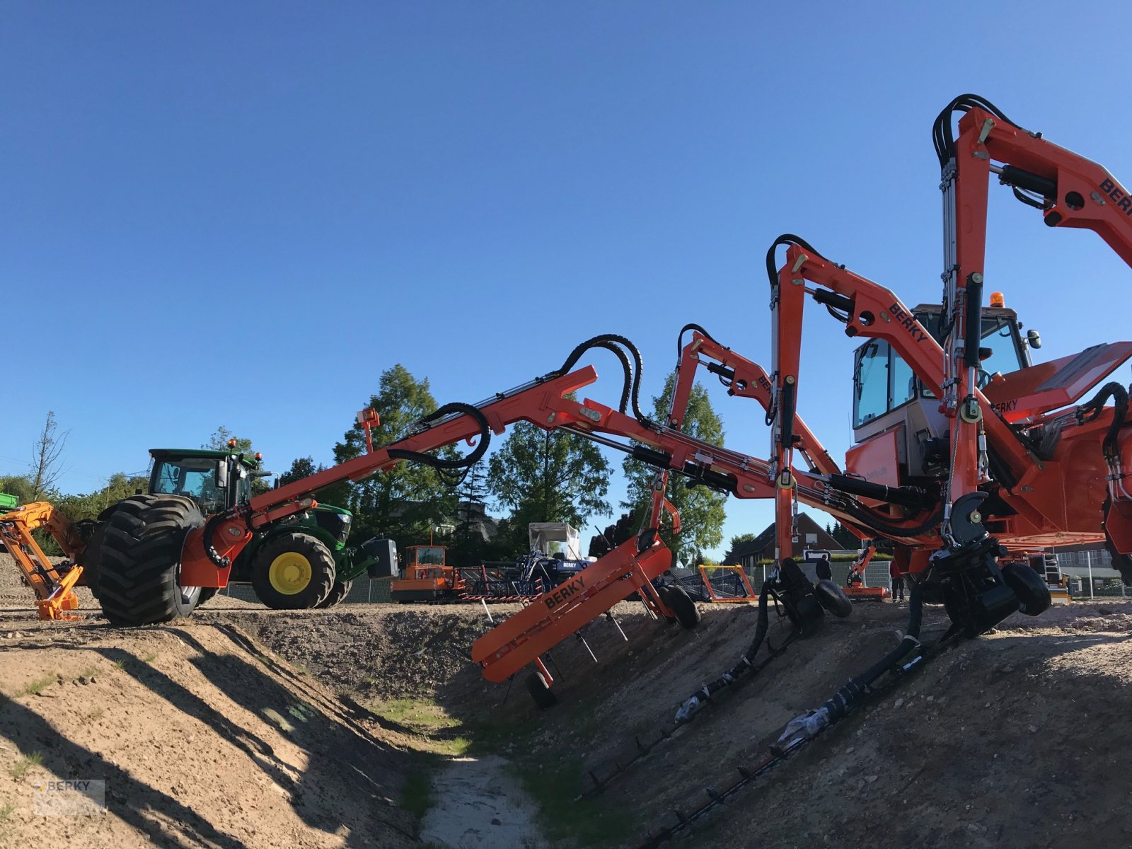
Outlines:
{"label": "broad round-crowned tree below the looped hoses, middle of three tall trees", "polygon": [[577,528],[590,516],[608,515],[609,472],[609,461],[593,443],[565,430],[516,423],[488,460],[488,491],[511,509],[500,535],[506,533],[504,539],[524,551],[530,522]]}

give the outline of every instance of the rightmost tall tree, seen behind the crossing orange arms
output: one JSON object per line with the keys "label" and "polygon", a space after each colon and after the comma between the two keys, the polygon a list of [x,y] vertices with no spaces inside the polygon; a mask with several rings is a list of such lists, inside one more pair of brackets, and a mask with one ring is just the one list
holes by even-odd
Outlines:
{"label": "rightmost tall tree, seen behind the crossing orange arms", "polygon": [[[664,381],[664,391],[660,397],[653,398],[653,414],[657,421],[668,419],[668,408],[675,387],[676,376],[669,375]],[[723,423],[712,409],[707,391],[701,384],[692,387],[683,430],[705,443],[723,445]],[[640,522],[652,503],[652,484],[657,478],[657,470],[632,458],[625,460],[624,469],[628,479],[628,494],[621,506],[633,511]],[[661,539],[680,563],[694,565],[692,559],[697,551],[714,548],[723,540],[723,521],[727,518],[723,504],[727,501],[727,495],[706,487],[688,488],[684,478],[674,473],[668,479],[667,497],[679,511],[681,532],[677,539],[671,533],[671,526],[662,522]]]}

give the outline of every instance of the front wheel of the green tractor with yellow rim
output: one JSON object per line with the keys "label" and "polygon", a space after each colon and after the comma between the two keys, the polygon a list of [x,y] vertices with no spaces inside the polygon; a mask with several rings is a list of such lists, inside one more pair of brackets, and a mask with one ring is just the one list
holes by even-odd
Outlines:
{"label": "front wheel of the green tractor with yellow rim", "polygon": [[267,540],[251,563],[251,588],[275,610],[310,610],[334,588],[334,555],[307,533]]}

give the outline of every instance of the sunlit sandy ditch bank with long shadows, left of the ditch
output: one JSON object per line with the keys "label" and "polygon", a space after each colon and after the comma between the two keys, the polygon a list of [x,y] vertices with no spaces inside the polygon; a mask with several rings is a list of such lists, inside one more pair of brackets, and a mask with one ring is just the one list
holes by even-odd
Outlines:
{"label": "sunlit sandy ditch bank with long shadows, left of the ditch", "polygon": [[[369,714],[188,621],[0,626],[0,846],[414,843],[410,764]],[[36,787],[105,781],[102,816],[36,816]]]}

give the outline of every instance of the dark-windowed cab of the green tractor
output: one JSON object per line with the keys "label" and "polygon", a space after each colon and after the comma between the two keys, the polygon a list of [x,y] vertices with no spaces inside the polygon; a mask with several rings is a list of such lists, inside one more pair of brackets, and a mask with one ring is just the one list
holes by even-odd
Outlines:
{"label": "dark-windowed cab of the green tractor", "polygon": [[247,460],[239,452],[152,448],[149,456],[149,494],[191,498],[206,516],[247,501],[251,480],[269,474],[260,471],[258,456]]}

